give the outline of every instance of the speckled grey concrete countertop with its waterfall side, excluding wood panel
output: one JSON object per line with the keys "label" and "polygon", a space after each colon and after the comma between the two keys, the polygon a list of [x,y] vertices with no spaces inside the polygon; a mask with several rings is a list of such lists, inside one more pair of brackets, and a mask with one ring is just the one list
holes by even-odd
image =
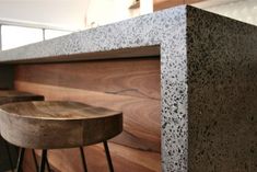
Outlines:
{"label": "speckled grey concrete countertop with its waterfall side, excluding wood panel", "polygon": [[254,26],[183,5],[2,51],[0,61],[150,45],[161,47],[163,171],[257,171]]}

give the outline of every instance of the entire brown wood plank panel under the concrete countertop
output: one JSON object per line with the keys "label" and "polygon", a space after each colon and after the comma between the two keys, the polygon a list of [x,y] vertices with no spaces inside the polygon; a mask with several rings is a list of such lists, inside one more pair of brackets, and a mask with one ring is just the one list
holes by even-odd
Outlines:
{"label": "entire brown wood plank panel under the concrete countertop", "polygon": [[[110,140],[117,172],[161,171],[160,59],[20,65],[16,90],[124,112],[124,133]],[[80,172],[78,149],[52,150],[55,171]],[[89,171],[107,172],[102,145],[85,148]],[[26,159],[24,168],[33,169]],[[31,168],[30,168],[31,167]],[[30,172],[30,171],[27,171]]]}

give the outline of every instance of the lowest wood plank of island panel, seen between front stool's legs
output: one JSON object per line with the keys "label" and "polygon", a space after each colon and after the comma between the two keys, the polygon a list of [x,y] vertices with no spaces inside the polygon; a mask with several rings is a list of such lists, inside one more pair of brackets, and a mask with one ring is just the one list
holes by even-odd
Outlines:
{"label": "lowest wood plank of island panel, seen between front stool's legs", "polygon": [[[160,153],[141,151],[131,149],[116,144],[109,144],[110,156],[113,159],[115,171],[117,172],[159,172],[161,171]],[[38,160],[40,158],[40,150],[37,150]],[[94,172],[108,172],[108,164],[102,144],[89,146],[84,148],[86,157],[87,170]],[[27,154],[31,158],[31,154]],[[61,172],[82,172],[82,161],[80,150],[61,149],[49,150],[48,160],[51,169]],[[97,163],[95,163],[97,160]],[[26,165],[34,169],[32,164]]]}

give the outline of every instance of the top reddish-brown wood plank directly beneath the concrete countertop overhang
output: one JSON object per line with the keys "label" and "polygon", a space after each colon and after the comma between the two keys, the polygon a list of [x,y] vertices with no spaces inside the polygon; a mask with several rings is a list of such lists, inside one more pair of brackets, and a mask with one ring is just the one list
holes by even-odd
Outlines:
{"label": "top reddish-brown wood plank directly beneath the concrete countertop overhang", "polygon": [[159,58],[20,65],[15,70],[17,80],[160,100]]}

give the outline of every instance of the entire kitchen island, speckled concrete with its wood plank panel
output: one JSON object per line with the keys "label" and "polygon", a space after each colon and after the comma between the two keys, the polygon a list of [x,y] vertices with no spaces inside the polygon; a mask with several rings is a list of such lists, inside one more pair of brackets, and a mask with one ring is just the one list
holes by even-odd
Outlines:
{"label": "entire kitchen island, speckled concrete with its wood plank panel", "polygon": [[[0,62],[0,88],[122,111],[117,171],[257,171],[256,26],[182,5],[2,51]],[[93,171],[102,153],[87,149]],[[61,154],[72,153],[52,151],[52,167]]]}

